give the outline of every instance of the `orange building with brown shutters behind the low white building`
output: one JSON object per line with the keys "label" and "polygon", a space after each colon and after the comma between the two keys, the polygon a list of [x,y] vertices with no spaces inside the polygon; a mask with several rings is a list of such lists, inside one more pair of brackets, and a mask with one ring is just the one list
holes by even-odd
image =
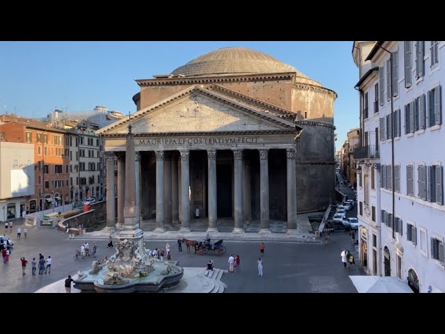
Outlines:
{"label": "orange building with brown shutters behind the low white building", "polygon": [[33,196],[26,196],[27,212],[56,208],[70,201],[65,130],[13,114],[0,116],[0,132],[5,141],[34,144],[35,191]]}

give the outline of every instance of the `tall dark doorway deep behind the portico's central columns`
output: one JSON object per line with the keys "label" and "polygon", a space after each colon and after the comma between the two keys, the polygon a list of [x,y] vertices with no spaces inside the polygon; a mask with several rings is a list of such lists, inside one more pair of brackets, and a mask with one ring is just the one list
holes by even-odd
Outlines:
{"label": "tall dark doorway deep behind the portico's central columns", "polygon": [[232,216],[232,166],[216,164],[216,214],[219,217]]}

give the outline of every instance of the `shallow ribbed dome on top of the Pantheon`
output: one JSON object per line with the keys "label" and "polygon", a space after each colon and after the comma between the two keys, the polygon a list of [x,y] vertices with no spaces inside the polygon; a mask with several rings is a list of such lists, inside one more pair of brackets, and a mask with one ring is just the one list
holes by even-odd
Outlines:
{"label": "shallow ribbed dome on top of the Pantheon", "polygon": [[184,77],[214,77],[285,72],[296,72],[297,77],[309,79],[295,67],[282,63],[277,58],[263,52],[245,47],[224,47],[189,61],[186,65],[174,70],[172,74],[182,74]]}

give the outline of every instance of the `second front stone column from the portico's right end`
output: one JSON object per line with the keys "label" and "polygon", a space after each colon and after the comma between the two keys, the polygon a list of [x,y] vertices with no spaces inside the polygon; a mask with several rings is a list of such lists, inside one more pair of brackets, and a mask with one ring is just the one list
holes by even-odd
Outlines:
{"label": "second front stone column from the portico's right end", "polygon": [[259,150],[259,206],[261,207],[260,233],[270,233],[268,153],[268,150]]}

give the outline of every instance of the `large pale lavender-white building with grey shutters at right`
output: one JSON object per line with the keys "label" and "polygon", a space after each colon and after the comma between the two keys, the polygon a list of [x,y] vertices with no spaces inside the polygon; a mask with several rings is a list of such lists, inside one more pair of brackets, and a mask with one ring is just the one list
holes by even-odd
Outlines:
{"label": "large pale lavender-white building with grey shutters at right", "polygon": [[364,86],[378,95],[371,97],[379,109],[373,125],[366,121],[376,128],[380,155],[378,274],[398,276],[419,292],[445,292],[444,47],[444,41],[379,41],[365,55],[378,73],[374,90]]}

